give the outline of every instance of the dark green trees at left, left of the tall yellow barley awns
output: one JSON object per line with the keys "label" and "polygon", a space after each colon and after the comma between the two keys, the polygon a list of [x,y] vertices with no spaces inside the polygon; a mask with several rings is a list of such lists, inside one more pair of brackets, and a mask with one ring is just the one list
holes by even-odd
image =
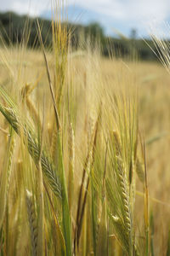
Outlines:
{"label": "dark green trees at left, left of the tall yellow barley awns", "polygon": [[[38,19],[42,27],[43,44],[52,44],[51,21]],[[40,45],[37,37],[37,19],[12,12],[0,13],[0,33],[6,44],[18,44],[25,41],[28,47]]]}

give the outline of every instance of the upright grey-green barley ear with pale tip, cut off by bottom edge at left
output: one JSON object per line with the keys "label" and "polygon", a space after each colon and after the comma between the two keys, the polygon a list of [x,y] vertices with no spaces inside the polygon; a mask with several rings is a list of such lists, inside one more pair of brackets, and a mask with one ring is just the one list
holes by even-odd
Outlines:
{"label": "upright grey-green barley ear with pale tip, cut off by bottom edge at left", "polygon": [[26,206],[31,230],[32,255],[37,256],[37,213],[30,191],[26,190]]}

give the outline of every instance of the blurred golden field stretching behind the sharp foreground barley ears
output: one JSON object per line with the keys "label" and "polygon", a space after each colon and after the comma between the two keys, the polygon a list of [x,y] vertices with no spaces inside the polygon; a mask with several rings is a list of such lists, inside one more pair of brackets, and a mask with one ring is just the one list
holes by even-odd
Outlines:
{"label": "blurred golden field stretching behind the sharp foreground barley ears", "polygon": [[[7,90],[17,91],[25,84],[37,84],[31,95],[33,102],[39,108],[39,97],[45,91],[48,110],[51,109],[48,91],[48,79],[46,67],[41,50],[25,49],[24,47],[6,47],[0,49],[1,68],[0,84]],[[47,51],[48,63],[53,77],[53,55]],[[167,234],[169,230],[170,200],[169,200],[169,131],[170,131],[170,92],[169,73],[159,62],[127,61],[126,59],[105,58],[99,52],[92,54],[90,51],[82,54],[71,54],[69,75],[74,83],[77,95],[77,123],[76,150],[77,167],[76,179],[81,182],[81,173],[78,166],[82,166],[82,160],[86,147],[83,135],[83,125],[86,115],[93,115],[95,98],[100,95],[100,90],[105,87],[108,94],[112,90],[119,90],[123,86],[125,90],[138,90],[139,102],[139,131],[144,135],[146,143],[146,159],[148,167],[148,183],[150,191],[150,211],[154,216],[154,243],[156,255],[166,252]],[[10,89],[11,88],[11,89]],[[86,102],[88,101],[88,102]],[[93,104],[90,104],[90,101]],[[98,101],[98,100],[97,100]],[[112,102],[114,104],[114,102]],[[66,104],[64,102],[64,104]],[[87,108],[88,107],[88,108]],[[86,109],[87,108],[87,109]],[[46,114],[48,114],[46,110]],[[1,116],[1,127],[5,129]],[[48,125],[51,125],[50,122]],[[64,148],[67,148],[67,138],[64,137]],[[3,151],[4,136],[1,131],[1,154]],[[67,150],[67,149],[66,149]],[[66,156],[65,156],[66,157]],[[67,161],[67,160],[66,160]],[[1,158],[3,165],[3,158]],[[137,178],[136,218],[143,218],[143,186]],[[140,226],[140,224],[139,224]],[[140,227],[141,228],[141,227]],[[141,231],[142,232],[142,231]]]}

